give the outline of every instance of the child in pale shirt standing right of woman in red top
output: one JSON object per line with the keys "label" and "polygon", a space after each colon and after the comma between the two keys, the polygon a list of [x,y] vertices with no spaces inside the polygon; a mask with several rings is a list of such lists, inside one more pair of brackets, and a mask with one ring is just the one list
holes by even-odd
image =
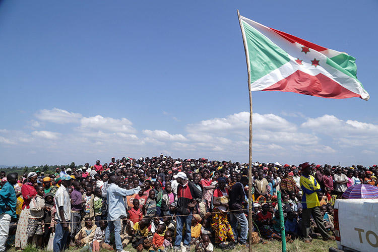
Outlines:
{"label": "child in pale shirt standing right of woman in red top", "polygon": [[28,221],[27,235],[28,243],[31,244],[33,241],[33,236],[37,235],[37,247],[42,247],[42,238],[43,238],[43,216],[44,210],[50,210],[45,206],[44,187],[43,185],[37,185],[36,187],[37,195],[30,202],[30,215]]}

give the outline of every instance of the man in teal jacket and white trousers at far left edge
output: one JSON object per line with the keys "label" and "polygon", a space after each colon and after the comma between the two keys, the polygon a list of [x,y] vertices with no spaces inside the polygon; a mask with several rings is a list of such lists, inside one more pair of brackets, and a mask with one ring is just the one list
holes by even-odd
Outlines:
{"label": "man in teal jacket and white trousers at far left edge", "polygon": [[16,218],[16,191],[13,187],[17,183],[17,173],[9,173],[8,182],[0,190],[0,252],[5,251],[11,218]]}

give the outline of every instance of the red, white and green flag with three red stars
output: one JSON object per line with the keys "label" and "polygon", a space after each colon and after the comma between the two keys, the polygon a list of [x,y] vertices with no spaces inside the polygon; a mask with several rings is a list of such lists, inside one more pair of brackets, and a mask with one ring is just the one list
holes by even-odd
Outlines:
{"label": "red, white and green flag with three red stars", "polygon": [[242,16],[240,19],[251,91],[369,99],[357,80],[354,57]]}

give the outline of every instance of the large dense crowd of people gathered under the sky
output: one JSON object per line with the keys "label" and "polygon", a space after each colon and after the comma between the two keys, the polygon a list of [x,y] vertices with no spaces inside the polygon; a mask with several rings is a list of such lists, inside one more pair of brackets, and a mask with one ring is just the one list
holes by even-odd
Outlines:
{"label": "large dense crowd of people gathered under the sky", "polygon": [[[347,187],[378,184],[378,167],[111,158],[80,168],[37,167],[19,176],[0,172],[0,252],[35,243],[54,252],[76,246],[138,252],[210,252],[214,246],[281,240],[277,193],[282,194],[285,239],[334,239],[333,204]],[[248,191],[253,209],[248,213]],[[254,229],[248,232],[248,214]],[[50,247],[49,247],[50,246]],[[51,247],[52,246],[52,247]]]}

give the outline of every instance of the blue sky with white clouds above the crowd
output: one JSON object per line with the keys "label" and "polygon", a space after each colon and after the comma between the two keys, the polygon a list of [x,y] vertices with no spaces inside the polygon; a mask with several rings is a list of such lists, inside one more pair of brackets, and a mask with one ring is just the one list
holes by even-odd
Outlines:
{"label": "blue sky with white clouds above the crowd", "polygon": [[373,0],[3,1],[0,164],[160,153],[247,161],[247,76],[236,9],[353,55],[371,97],[254,92],[254,161],[373,164]]}

